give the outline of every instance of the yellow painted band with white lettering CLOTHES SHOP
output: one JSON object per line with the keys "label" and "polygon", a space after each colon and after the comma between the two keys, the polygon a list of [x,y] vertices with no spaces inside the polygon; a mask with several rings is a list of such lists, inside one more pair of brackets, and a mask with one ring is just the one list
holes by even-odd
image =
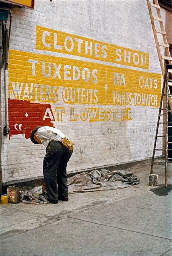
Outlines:
{"label": "yellow painted band with white lettering CLOTHES SHOP", "polygon": [[149,68],[148,53],[40,26],[36,26],[36,49]]}

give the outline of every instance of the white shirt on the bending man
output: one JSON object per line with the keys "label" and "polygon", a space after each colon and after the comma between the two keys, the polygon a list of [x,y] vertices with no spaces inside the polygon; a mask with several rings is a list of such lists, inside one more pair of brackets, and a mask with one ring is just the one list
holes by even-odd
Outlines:
{"label": "white shirt on the bending man", "polygon": [[61,141],[61,139],[66,137],[59,129],[50,126],[40,127],[37,129],[36,134],[45,147],[49,145],[51,140]]}

